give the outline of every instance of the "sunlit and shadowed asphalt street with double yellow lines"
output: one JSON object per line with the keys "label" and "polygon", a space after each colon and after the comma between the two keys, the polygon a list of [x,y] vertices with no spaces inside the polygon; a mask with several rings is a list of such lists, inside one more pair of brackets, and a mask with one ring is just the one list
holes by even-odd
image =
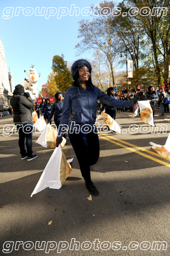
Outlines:
{"label": "sunlit and shadowed asphalt street with double yellow lines", "polygon": [[[162,118],[159,113],[155,123],[166,124],[166,133],[141,133],[140,118],[122,112],[116,119],[121,133],[100,134],[100,159],[91,168],[100,196],[92,201],[68,136],[63,152],[66,159],[74,159],[65,184],[30,197],[53,149],[35,143],[39,135],[34,133],[33,152],[39,157],[21,160],[18,134],[2,135],[3,127],[13,124],[12,117],[2,118],[0,255],[170,255],[170,161],[149,145],[165,145],[170,131],[170,122],[163,121],[170,114]],[[131,124],[139,126],[136,133],[130,133]],[[165,242],[156,247],[154,241]]]}

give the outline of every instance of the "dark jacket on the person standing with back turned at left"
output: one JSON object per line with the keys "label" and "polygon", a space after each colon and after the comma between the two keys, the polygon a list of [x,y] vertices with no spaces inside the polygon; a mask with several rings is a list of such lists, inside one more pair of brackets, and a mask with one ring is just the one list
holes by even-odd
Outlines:
{"label": "dark jacket on the person standing with back turned at left", "polygon": [[28,100],[23,94],[14,90],[10,104],[14,111],[14,123],[24,123],[33,119],[30,108],[34,107],[32,100]]}

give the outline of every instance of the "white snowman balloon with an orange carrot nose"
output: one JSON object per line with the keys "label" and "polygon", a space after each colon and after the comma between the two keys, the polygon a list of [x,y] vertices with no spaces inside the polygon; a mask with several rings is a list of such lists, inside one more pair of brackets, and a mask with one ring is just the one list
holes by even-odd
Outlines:
{"label": "white snowman balloon with an orange carrot nose", "polygon": [[37,82],[39,80],[41,73],[38,73],[34,66],[31,65],[31,68],[28,71],[27,77],[22,81],[25,89],[31,91],[33,95],[36,94]]}

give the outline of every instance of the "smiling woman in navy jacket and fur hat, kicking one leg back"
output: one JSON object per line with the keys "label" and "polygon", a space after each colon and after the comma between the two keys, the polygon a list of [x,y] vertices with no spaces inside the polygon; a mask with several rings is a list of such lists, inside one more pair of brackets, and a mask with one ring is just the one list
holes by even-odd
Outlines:
{"label": "smiling woman in navy jacket and fur hat, kicking one leg back", "polygon": [[134,105],[137,96],[130,101],[109,97],[92,84],[91,70],[90,63],[84,59],[77,60],[72,65],[71,75],[74,81],[65,93],[56,146],[62,142],[63,133],[68,127],[69,140],[78,158],[86,188],[92,196],[98,196],[98,190],[92,183],[90,174],[90,166],[98,161],[100,153],[95,127],[97,100],[112,107],[124,108]]}

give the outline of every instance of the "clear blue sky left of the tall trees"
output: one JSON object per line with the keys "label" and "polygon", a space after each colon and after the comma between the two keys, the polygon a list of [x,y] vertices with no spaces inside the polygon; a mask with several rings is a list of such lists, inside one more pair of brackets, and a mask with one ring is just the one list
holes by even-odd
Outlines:
{"label": "clear blue sky left of the tall trees", "polygon": [[[7,65],[11,67],[14,85],[21,84],[21,81],[27,76],[24,73],[24,68],[28,71],[33,64],[37,72],[41,73],[37,87],[40,90],[41,85],[46,84],[47,77],[52,72],[51,66],[54,55],[63,53],[65,60],[69,62],[78,59],[74,49],[79,42],[78,21],[89,18],[84,16],[82,9],[91,7],[91,4],[100,4],[100,2],[97,0],[1,1],[0,39],[4,44]],[[73,4],[75,7],[79,7],[84,15],[80,12],[79,16],[76,16],[74,12],[73,16],[68,14],[60,17],[61,7],[68,8],[63,9],[63,12],[69,11],[70,13]],[[22,9],[18,12],[19,7],[23,8],[25,15]],[[40,7],[40,11],[44,7],[43,16],[35,15],[36,7]],[[56,15],[49,16],[50,7],[57,9]],[[53,11],[55,14],[56,9],[52,9],[51,12]],[[33,14],[26,16],[28,15],[26,11]],[[88,54],[81,55],[81,57],[90,58]]]}

